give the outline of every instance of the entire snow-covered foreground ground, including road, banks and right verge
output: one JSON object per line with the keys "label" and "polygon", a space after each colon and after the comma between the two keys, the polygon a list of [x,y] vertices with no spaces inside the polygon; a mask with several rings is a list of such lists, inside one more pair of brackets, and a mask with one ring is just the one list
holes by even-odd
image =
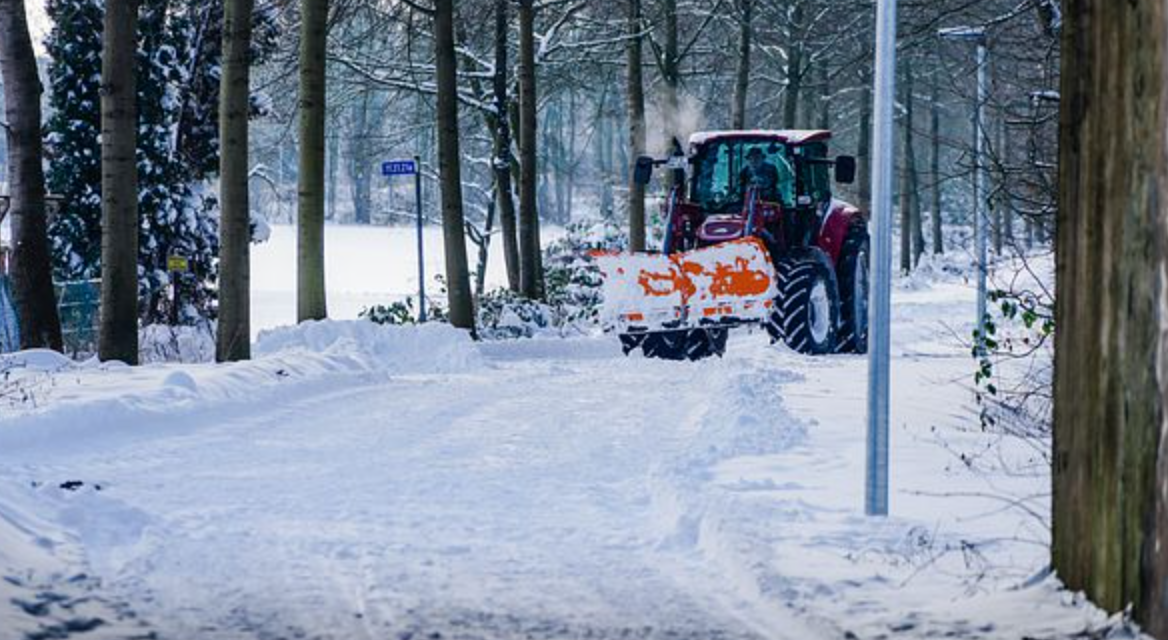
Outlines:
{"label": "entire snow-covered foreground ground, including road, banks and right verge", "polygon": [[861,510],[865,360],[759,333],[701,363],[352,321],[231,366],[11,356],[0,638],[1105,628],[1044,572],[1041,452],[978,427],[968,284],[904,283],[894,314],[887,520]]}

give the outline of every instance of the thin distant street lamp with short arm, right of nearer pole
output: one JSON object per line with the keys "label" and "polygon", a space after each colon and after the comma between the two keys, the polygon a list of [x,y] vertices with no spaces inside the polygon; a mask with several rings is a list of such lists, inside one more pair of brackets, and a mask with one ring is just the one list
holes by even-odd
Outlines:
{"label": "thin distant street lamp with short arm, right of nearer pole", "polygon": [[940,29],[937,33],[946,40],[974,42],[978,46],[978,105],[973,113],[973,237],[978,253],[978,334],[974,348],[983,353],[986,345],[986,272],[988,271],[986,236],[988,235],[986,213],[981,202],[981,190],[989,183],[986,176],[983,160],[986,146],[986,100],[989,95],[986,60],[989,57],[986,48],[985,27],[954,27]]}

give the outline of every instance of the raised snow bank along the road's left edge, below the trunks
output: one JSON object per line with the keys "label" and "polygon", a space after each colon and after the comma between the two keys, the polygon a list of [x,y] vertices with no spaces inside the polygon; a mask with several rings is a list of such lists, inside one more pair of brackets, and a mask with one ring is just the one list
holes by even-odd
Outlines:
{"label": "raised snow bank along the road's left edge, below the trunks", "polygon": [[[342,392],[387,375],[459,373],[481,364],[466,333],[445,325],[306,322],[266,332],[255,360],[230,364],[69,362],[53,352],[0,360],[16,399],[0,405],[0,459],[84,451],[103,443],[182,433],[264,405]],[[35,377],[34,377],[35,374]],[[48,376],[48,377],[47,377]],[[0,396],[2,397],[2,396]]]}

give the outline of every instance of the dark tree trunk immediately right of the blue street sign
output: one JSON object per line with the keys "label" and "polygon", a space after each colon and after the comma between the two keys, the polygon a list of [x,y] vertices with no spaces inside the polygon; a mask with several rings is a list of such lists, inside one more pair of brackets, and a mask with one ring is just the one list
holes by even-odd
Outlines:
{"label": "dark tree trunk immediately right of the blue street sign", "polygon": [[438,88],[438,174],[442,187],[443,245],[450,324],[474,332],[474,299],[466,257],[463,174],[458,139],[458,57],[454,54],[454,0],[437,0],[433,19]]}

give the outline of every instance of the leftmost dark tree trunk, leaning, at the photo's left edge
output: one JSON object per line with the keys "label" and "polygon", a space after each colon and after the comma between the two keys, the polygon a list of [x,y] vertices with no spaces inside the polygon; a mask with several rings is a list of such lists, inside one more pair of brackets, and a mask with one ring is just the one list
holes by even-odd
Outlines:
{"label": "leftmost dark tree trunk, leaning, at the photo's left edge", "polygon": [[61,319],[53,292],[44,203],[41,83],[23,0],[0,0],[0,76],[4,77],[8,121],[7,169],[14,241],[12,274],[20,319],[20,346],[22,349],[60,352],[63,350]]}

